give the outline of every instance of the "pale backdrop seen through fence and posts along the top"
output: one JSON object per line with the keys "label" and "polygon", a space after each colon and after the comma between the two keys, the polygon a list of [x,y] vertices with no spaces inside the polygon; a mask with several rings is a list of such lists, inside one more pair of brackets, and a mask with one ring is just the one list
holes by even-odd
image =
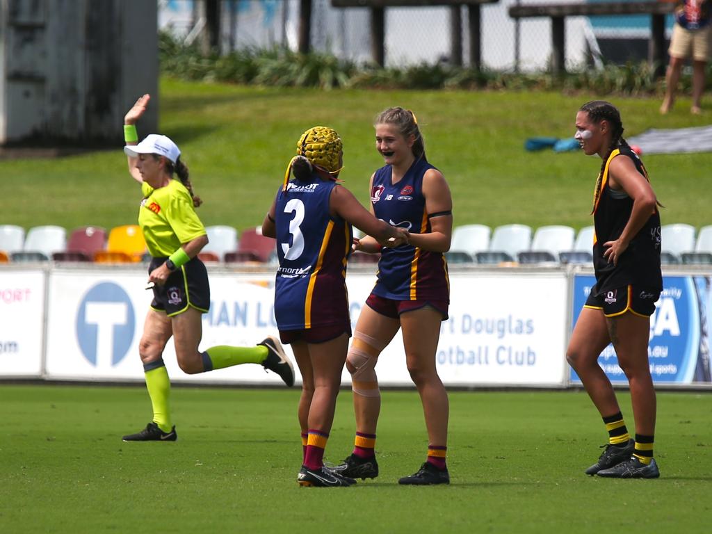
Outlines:
{"label": "pale backdrop seen through fence and posts along the top", "polygon": [[[276,45],[296,50],[303,3],[303,0],[216,1],[220,27],[217,48],[222,53]],[[550,19],[513,19],[508,10],[512,6],[555,3],[561,0],[499,0],[483,4],[480,8],[482,68],[503,72],[547,70],[552,58]],[[586,2],[567,0],[566,3]],[[207,4],[210,3],[200,0],[159,0],[159,27],[192,42],[205,28]],[[470,65],[467,10],[466,6],[385,9],[385,66],[452,62],[454,21],[460,25],[462,61]],[[208,18],[210,16],[208,14]],[[310,49],[357,63],[371,61],[369,8],[337,8],[332,0],[312,0],[310,23]],[[666,17],[665,26],[669,39],[670,15]],[[591,63],[600,65],[601,61],[620,64],[645,60],[650,27],[647,14],[567,17],[565,67],[577,70]]]}

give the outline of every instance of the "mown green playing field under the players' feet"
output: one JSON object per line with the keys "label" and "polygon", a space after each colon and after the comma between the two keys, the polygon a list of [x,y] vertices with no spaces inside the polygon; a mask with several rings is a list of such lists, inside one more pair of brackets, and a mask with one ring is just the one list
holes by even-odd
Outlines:
{"label": "mown green playing field under the players' feet", "polygon": [[[342,392],[327,459],[350,452]],[[629,397],[619,394],[624,414]],[[414,392],[384,392],[381,475],[299,488],[297,390],[173,390],[176,443],[123,443],[142,387],[0,386],[0,532],[706,533],[712,396],[658,394],[661,478],[589,477],[605,431],[583,392],[452,392],[449,487],[397,478],[424,460]],[[630,417],[630,416],[629,416]]]}

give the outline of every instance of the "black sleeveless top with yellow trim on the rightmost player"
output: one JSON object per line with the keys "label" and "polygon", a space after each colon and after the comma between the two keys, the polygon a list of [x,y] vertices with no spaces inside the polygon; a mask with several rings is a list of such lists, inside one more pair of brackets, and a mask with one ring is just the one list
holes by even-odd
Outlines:
{"label": "black sleeveless top with yellow trim on the rightmost player", "polygon": [[603,256],[605,251],[603,244],[620,237],[633,209],[633,199],[622,190],[611,189],[608,182],[608,167],[612,159],[618,155],[632,159],[638,172],[646,177],[640,158],[630,147],[622,145],[611,152],[604,167],[601,191],[593,212],[596,229],[593,239],[596,286],[592,291],[595,295],[600,295],[607,290],[623,288],[631,284],[662,290],[660,214],[657,209],[618,258],[617,265],[609,263]]}

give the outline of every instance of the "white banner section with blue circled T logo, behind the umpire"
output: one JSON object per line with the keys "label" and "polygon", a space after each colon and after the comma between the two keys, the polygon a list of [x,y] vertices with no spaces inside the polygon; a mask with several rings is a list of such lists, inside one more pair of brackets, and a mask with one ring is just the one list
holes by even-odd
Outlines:
{"label": "white banner section with blue circled T logo, behind the umpire", "polygon": [[[253,346],[276,335],[267,275],[211,275],[211,311],[203,316],[200,350],[214,345]],[[133,271],[51,273],[46,372],[52,379],[142,380],[139,342],[152,300],[147,275]],[[187,375],[179,369],[173,340],[163,360],[182,382],[278,384],[261,365]]]}

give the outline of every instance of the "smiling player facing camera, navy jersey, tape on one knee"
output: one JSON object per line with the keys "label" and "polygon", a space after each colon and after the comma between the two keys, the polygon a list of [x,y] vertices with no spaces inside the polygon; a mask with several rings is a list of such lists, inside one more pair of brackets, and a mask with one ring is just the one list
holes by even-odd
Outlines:
{"label": "smiling player facing camera, navy jersey, tape on one knee", "polygon": [[402,330],[408,371],[423,404],[428,447],[421,468],[399,483],[449,483],[449,402],[435,355],[450,299],[444,253],[450,248],[452,198],[442,173],[426,159],[412,111],[384,110],[375,130],[376,149],[385,165],[370,180],[371,210],[379,219],[407,229],[409,242],[383,248],[366,236],[356,245],[357,250],[381,257],[376,285],[359,316],[346,362],[354,393],[355,446],[335,471],[352,478],[378,476],[375,442],[381,398],[375,366],[379,354]]}

